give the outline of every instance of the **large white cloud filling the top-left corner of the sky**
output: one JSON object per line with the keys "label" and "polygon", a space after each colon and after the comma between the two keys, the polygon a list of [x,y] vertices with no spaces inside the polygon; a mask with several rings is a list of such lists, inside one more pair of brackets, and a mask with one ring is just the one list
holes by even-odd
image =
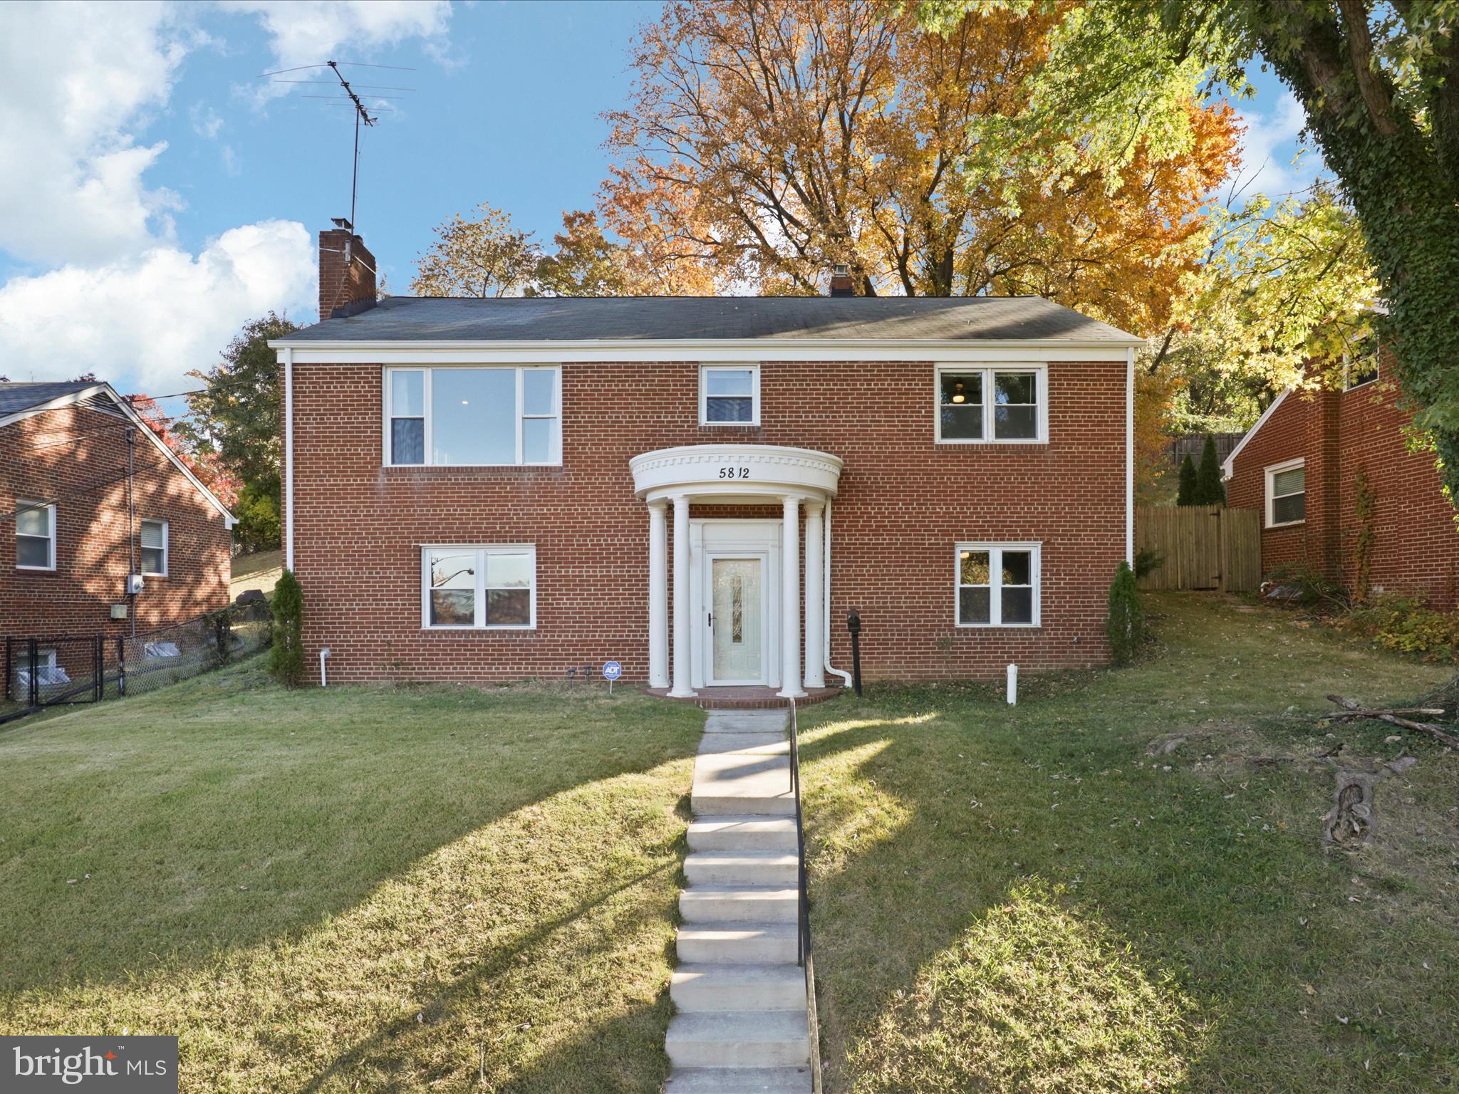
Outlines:
{"label": "large white cloud filling the top-left corner of the sky", "polygon": [[160,4],[9,4],[0,35],[0,251],[108,261],[171,230],[178,198],[131,131],[187,53]]}

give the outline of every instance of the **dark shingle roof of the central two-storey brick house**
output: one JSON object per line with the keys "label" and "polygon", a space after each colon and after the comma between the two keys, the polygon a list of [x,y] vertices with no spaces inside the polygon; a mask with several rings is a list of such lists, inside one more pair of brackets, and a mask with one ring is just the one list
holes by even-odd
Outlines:
{"label": "dark shingle roof of the central two-storey brick house", "polygon": [[1134,341],[1040,296],[607,296],[460,299],[390,296],[277,344],[315,341]]}

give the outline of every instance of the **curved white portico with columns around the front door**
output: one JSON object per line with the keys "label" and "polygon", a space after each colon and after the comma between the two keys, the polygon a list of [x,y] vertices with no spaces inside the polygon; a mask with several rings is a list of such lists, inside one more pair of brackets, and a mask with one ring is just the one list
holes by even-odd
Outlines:
{"label": "curved white portico with columns around the front door", "polygon": [[[678,699],[713,686],[762,684],[782,697],[823,688],[826,511],[842,461],[805,448],[711,443],[643,452],[629,468],[649,513],[649,687]],[[779,519],[692,519],[692,505],[778,505],[781,512]]]}

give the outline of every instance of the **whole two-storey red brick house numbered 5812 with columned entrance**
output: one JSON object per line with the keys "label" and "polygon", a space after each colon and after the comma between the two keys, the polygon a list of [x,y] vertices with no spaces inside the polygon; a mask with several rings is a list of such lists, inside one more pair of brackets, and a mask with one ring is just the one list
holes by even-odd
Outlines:
{"label": "whole two-storey red brick house numbered 5812 with columned entrance", "polygon": [[[280,338],[287,565],[330,680],[689,694],[1107,659],[1139,340],[1039,298],[417,299],[324,232]],[[346,254],[353,252],[353,254]],[[346,267],[334,263],[346,255]],[[837,683],[832,678],[830,683]]]}

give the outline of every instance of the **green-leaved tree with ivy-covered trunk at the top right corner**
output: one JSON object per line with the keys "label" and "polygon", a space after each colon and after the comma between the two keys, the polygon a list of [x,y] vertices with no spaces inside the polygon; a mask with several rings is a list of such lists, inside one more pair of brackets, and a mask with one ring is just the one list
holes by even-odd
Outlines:
{"label": "green-leaved tree with ivy-covered trunk at the top right corner", "polygon": [[[924,0],[947,31],[970,7],[1032,0]],[[1401,388],[1459,497],[1459,0],[1122,0],[1061,22],[1043,85],[1002,127],[1014,136],[1080,118],[1129,143],[1189,140],[1172,92],[1192,71],[1239,92],[1258,55],[1306,111],[1306,131],[1361,226],[1386,315],[1376,321]],[[988,155],[999,153],[991,133]],[[1103,140],[1090,155],[1122,155]],[[976,165],[973,165],[976,168]]]}

